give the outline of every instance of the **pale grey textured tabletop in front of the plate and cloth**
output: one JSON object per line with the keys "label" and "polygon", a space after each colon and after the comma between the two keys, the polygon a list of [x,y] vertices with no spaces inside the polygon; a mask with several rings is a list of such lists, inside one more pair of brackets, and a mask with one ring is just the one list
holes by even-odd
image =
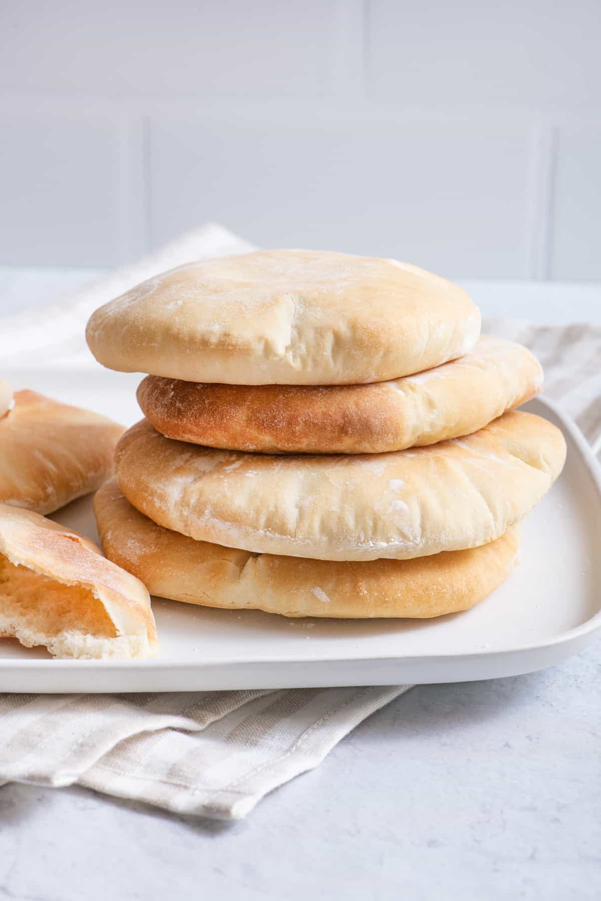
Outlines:
{"label": "pale grey textured tabletop in front of the plate and cloth", "polygon": [[415,687],[241,823],[0,789],[0,898],[601,896],[601,642],[530,676]]}

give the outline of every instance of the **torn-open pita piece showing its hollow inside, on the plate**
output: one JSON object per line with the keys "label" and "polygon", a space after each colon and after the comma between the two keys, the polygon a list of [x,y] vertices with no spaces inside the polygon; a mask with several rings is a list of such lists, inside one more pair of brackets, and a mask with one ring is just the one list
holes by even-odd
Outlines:
{"label": "torn-open pita piece showing its hollow inside, on the plate", "polygon": [[0,637],[56,657],[148,657],[158,649],[150,596],[96,544],[0,504]]}

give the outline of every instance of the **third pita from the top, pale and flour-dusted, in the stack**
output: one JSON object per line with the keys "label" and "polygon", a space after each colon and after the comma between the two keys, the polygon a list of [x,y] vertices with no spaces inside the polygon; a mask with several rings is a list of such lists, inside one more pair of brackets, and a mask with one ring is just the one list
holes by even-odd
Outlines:
{"label": "third pita from the top, pale and flour-dusted, in the stack", "polygon": [[463,439],[386,454],[269,456],[165,438],[142,420],[117,445],[123,494],[200,541],[316,560],[408,560],[492,542],[551,487],[563,435],[505,413]]}

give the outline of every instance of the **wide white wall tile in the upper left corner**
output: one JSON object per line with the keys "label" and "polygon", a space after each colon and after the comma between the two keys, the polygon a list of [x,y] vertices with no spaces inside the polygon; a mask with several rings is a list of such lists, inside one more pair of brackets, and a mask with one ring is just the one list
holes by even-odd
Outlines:
{"label": "wide white wall tile in the upper left corner", "polygon": [[136,96],[314,93],[335,0],[19,0],[3,48],[16,89]]}

